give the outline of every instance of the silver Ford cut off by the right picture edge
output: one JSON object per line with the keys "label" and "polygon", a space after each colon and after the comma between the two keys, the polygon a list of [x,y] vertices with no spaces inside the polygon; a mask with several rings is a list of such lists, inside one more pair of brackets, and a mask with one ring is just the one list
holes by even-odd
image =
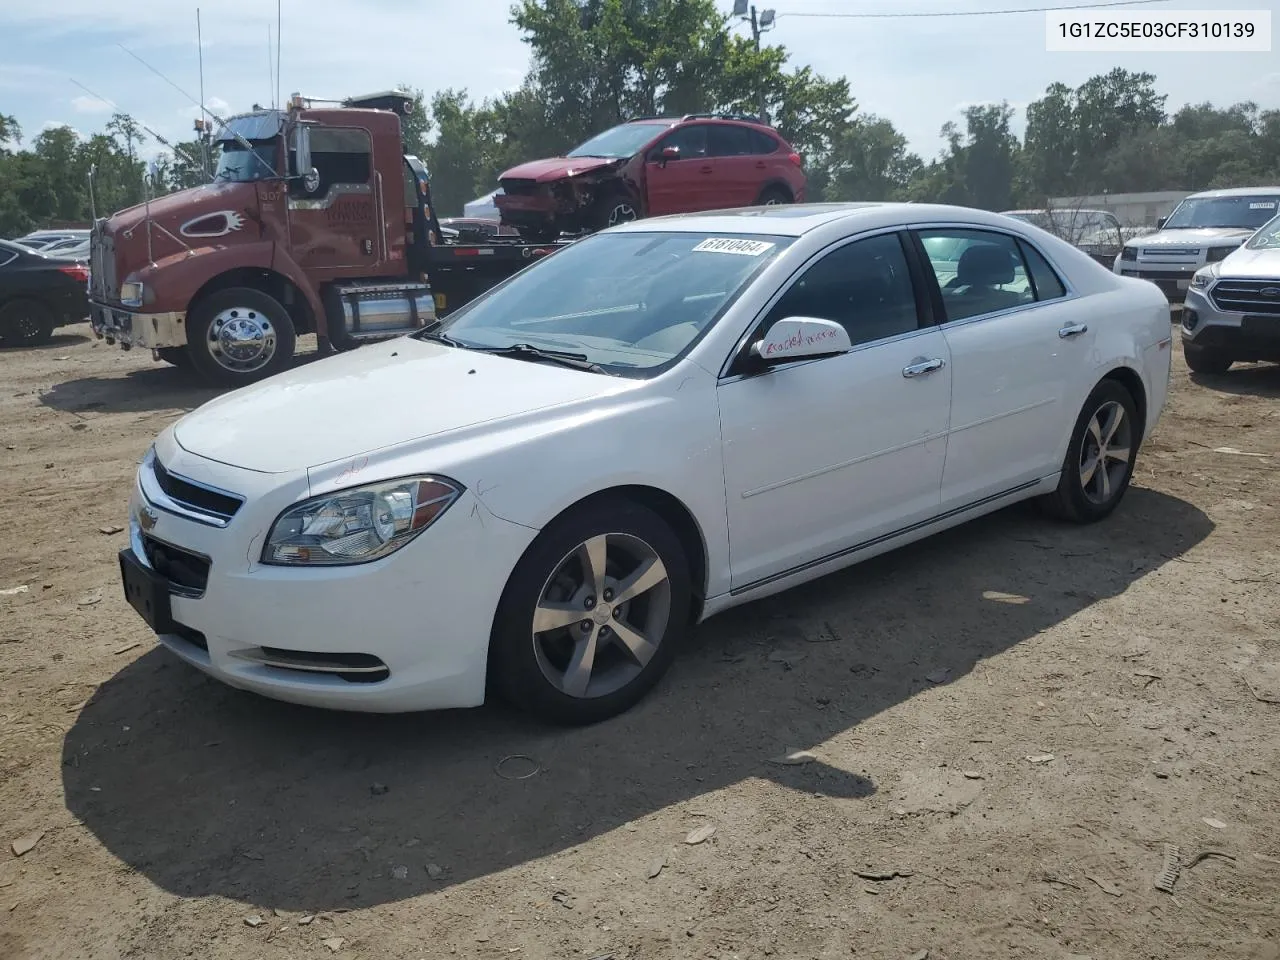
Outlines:
{"label": "silver Ford cut off by the right picture edge", "polygon": [[1201,374],[1225,374],[1236,361],[1280,364],[1280,216],[1196,271],[1181,334],[1187,366]]}

